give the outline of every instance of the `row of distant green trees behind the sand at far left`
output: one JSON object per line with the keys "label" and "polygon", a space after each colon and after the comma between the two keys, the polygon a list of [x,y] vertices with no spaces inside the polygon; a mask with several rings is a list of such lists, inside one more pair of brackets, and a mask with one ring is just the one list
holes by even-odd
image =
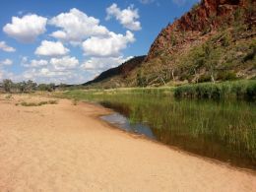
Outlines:
{"label": "row of distant green trees behind the sand at far left", "polygon": [[34,91],[53,92],[55,88],[55,84],[36,84],[32,82],[32,80],[14,83],[12,80],[5,79],[0,82],[0,91],[6,93],[30,93]]}

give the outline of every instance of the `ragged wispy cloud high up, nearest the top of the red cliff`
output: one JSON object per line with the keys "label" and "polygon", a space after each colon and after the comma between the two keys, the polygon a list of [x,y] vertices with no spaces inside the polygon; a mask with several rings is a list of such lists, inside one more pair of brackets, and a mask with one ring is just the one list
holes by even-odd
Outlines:
{"label": "ragged wispy cloud high up, nearest the top of the red cliff", "polygon": [[141,23],[137,21],[140,18],[138,9],[134,9],[133,6],[121,10],[115,3],[113,3],[110,7],[106,8],[106,13],[106,20],[114,17],[124,28],[131,31],[141,30]]}

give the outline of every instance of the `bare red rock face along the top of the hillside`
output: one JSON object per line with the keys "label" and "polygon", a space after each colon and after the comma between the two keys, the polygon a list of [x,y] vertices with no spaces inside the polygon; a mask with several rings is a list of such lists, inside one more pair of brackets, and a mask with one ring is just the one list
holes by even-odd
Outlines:
{"label": "bare red rock face along the top of the hillside", "polygon": [[[248,2],[256,0],[203,0],[195,5],[188,13],[173,24],[163,29],[152,44],[146,61],[156,56],[160,51],[171,53],[187,41],[197,39],[199,34],[215,31],[233,21],[234,12],[244,8]],[[254,6],[256,6],[254,4]],[[249,19],[255,25],[255,13]]]}

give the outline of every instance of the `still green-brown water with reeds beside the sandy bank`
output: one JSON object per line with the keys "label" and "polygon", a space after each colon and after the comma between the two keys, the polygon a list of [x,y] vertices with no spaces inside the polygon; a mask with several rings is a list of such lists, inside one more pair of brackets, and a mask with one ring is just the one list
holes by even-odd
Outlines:
{"label": "still green-brown water with reeds beside the sandy bank", "polygon": [[[174,100],[168,96],[104,96],[119,112],[103,119],[161,143],[256,169],[255,103]],[[127,117],[127,118],[126,118]]]}

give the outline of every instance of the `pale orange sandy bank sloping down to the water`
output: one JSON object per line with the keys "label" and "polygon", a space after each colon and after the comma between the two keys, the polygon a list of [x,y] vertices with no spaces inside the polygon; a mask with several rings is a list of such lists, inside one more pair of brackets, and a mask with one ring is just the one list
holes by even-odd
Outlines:
{"label": "pale orange sandy bank sloping down to the water", "polygon": [[0,100],[1,192],[256,190],[254,173],[111,128],[96,118],[102,107],[15,97]]}

